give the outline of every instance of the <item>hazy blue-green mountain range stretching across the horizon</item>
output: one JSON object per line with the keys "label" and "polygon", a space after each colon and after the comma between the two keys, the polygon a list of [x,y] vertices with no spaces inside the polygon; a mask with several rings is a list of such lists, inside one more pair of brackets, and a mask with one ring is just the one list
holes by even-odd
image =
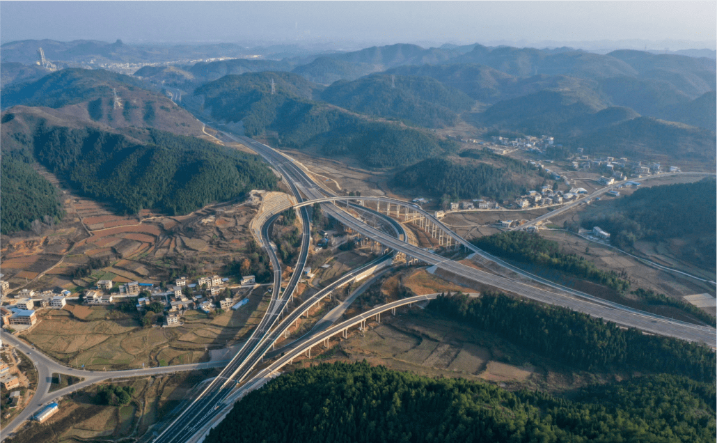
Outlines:
{"label": "hazy blue-green mountain range stretching across the horizon", "polygon": [[[45,45],[49,59],[92,54],[122,59],[147,49],[122,42],[11,42],[2,47],[3,60],[19,57],[39,44]],[[158,57],[168,57],[183,48],[167,47]],[[236,45],[186,49],[188,54],[224,51],[225,57],[246,57],[240,55],[242,50],[246,48]],[[141,55],[145,56],[149,53]],[[97,74],[98,78],[91,79],[94,74],[87,74],[78,79],[72,78],[76,70],[64,70],[45,77],[52,78],[47,84],[44,78],[32,81],[43,75],[42,68],[7,66],[1,92],[4,108],[15,104],[85,106],[90,118],[118,126],[125,123],[114,103],[111,110],[108,108],[108,94],[117,89],[109,83],[123,83],[120,89],[125,94],[152,83],[187,93],[194,90],[204,97],[205,108],[215,118],[242,121],[247,134],[274,131],[284,146],[314,144],[326,154],[348,152],[346,146],[356,143],[348,141],[348,134],[363,130],[369,123],[394,125],[393,129],[402,131],[410,126],[410,130],[429,136],[420,127],[445,128],[463,121],[475,126],[478,134],[546,134],[569,147],[586,143],[591,149],[599,146],[601,151],[609,146],[625,151],[625,140],[643,134],[645,126],[665,134],[686,131],[688,143],[704,151],[710,146],[706,140],[717,129],[715,60],[636,50],[601,55],[570,47],[538,50],[478,44],[432,48],[399,44],[353,52],[300,54],[282,60],[235,58],[182,66],[153,65],[141,68],[132,78]],[[142,100],[140,107],[151,101]],[[162,100],[166,99],[157,98],[156,102]],[[130,111],[133,106],[138,105],[130,101]],[[171,108],[165,104],[133,112],[141,114],[143,126],[152,126],[147,120],[161,114],[158,111],[162,106]],[[136,117],[128,121],[138,123]],[[671,121],[683,124],[672,125]],[[708,131],[695,130],[695,126]],[[171,130],[167,126],[161,129]],[[615,139],[611,142],[605,134]],[[381,160],[372,165],[407,164],[440,151],[440,139],[431,138],[433,141],[427,144],[419,143],[426,147],[419,149],[420,154],[399,154],[397,162]],[[667,153],[668,139],[651,139],[652,147],[645,149]]]}

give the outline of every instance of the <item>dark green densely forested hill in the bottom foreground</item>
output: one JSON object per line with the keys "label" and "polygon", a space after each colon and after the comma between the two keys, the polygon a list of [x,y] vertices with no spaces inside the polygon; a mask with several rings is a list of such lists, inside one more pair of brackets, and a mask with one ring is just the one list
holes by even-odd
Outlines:
{"label": "dark green densely forested hill in the bottom foreground", "polygon": [[574,400],[368,363],[284,373],[206,437],[241,442],[713,442],[715,389],[675,376],[589,386]]}

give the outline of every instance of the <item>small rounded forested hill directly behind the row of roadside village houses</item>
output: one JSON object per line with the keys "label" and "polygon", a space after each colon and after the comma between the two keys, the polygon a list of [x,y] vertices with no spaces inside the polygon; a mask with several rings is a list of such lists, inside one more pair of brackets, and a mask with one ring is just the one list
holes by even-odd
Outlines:
{"label": "small rounded forested hill directly behind the row of roadside village houses", "polygon": [[[396,174],[391,185],[435,197],[490,198],[502,202],[543,181],[526,164],[488,151],[464,151],[462,157],[426,159]],[[473,162],[471,158],[481,161]]]}

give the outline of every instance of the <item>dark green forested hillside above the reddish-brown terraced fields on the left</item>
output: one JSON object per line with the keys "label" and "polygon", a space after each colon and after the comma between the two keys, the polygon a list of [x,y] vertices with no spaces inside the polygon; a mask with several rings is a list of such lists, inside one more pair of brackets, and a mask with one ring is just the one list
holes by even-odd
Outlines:
{"label": "dark green forested hillside above the reddish-brown terraced fields on the left", "polygon": [[[108,202],[120,213],[150,208],[186,214],[210,202],[276,185],[275,175],[255,155],[164,131],[135,132],[146,141],[91,127],[46,126],[40,121],[27,134],[4,133],[8,142],[3,140],[3,157],[25,163],[37,160],[77,192]],[[8,206],[14,201],[3,199],[5,214],[24,213]],[[22,223],[15,225],[22,228]]]}

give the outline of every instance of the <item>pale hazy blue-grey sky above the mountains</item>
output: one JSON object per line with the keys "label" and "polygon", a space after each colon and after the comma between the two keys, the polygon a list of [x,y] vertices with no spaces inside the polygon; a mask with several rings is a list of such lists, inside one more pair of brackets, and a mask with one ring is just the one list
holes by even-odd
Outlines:
{"label": "pale hazy blue-grey sky above the mountains", "polygon": [[0,40],[340,47],[645,39],[654,49],[714,49],[716,17],[716,1],[0,1]]}

